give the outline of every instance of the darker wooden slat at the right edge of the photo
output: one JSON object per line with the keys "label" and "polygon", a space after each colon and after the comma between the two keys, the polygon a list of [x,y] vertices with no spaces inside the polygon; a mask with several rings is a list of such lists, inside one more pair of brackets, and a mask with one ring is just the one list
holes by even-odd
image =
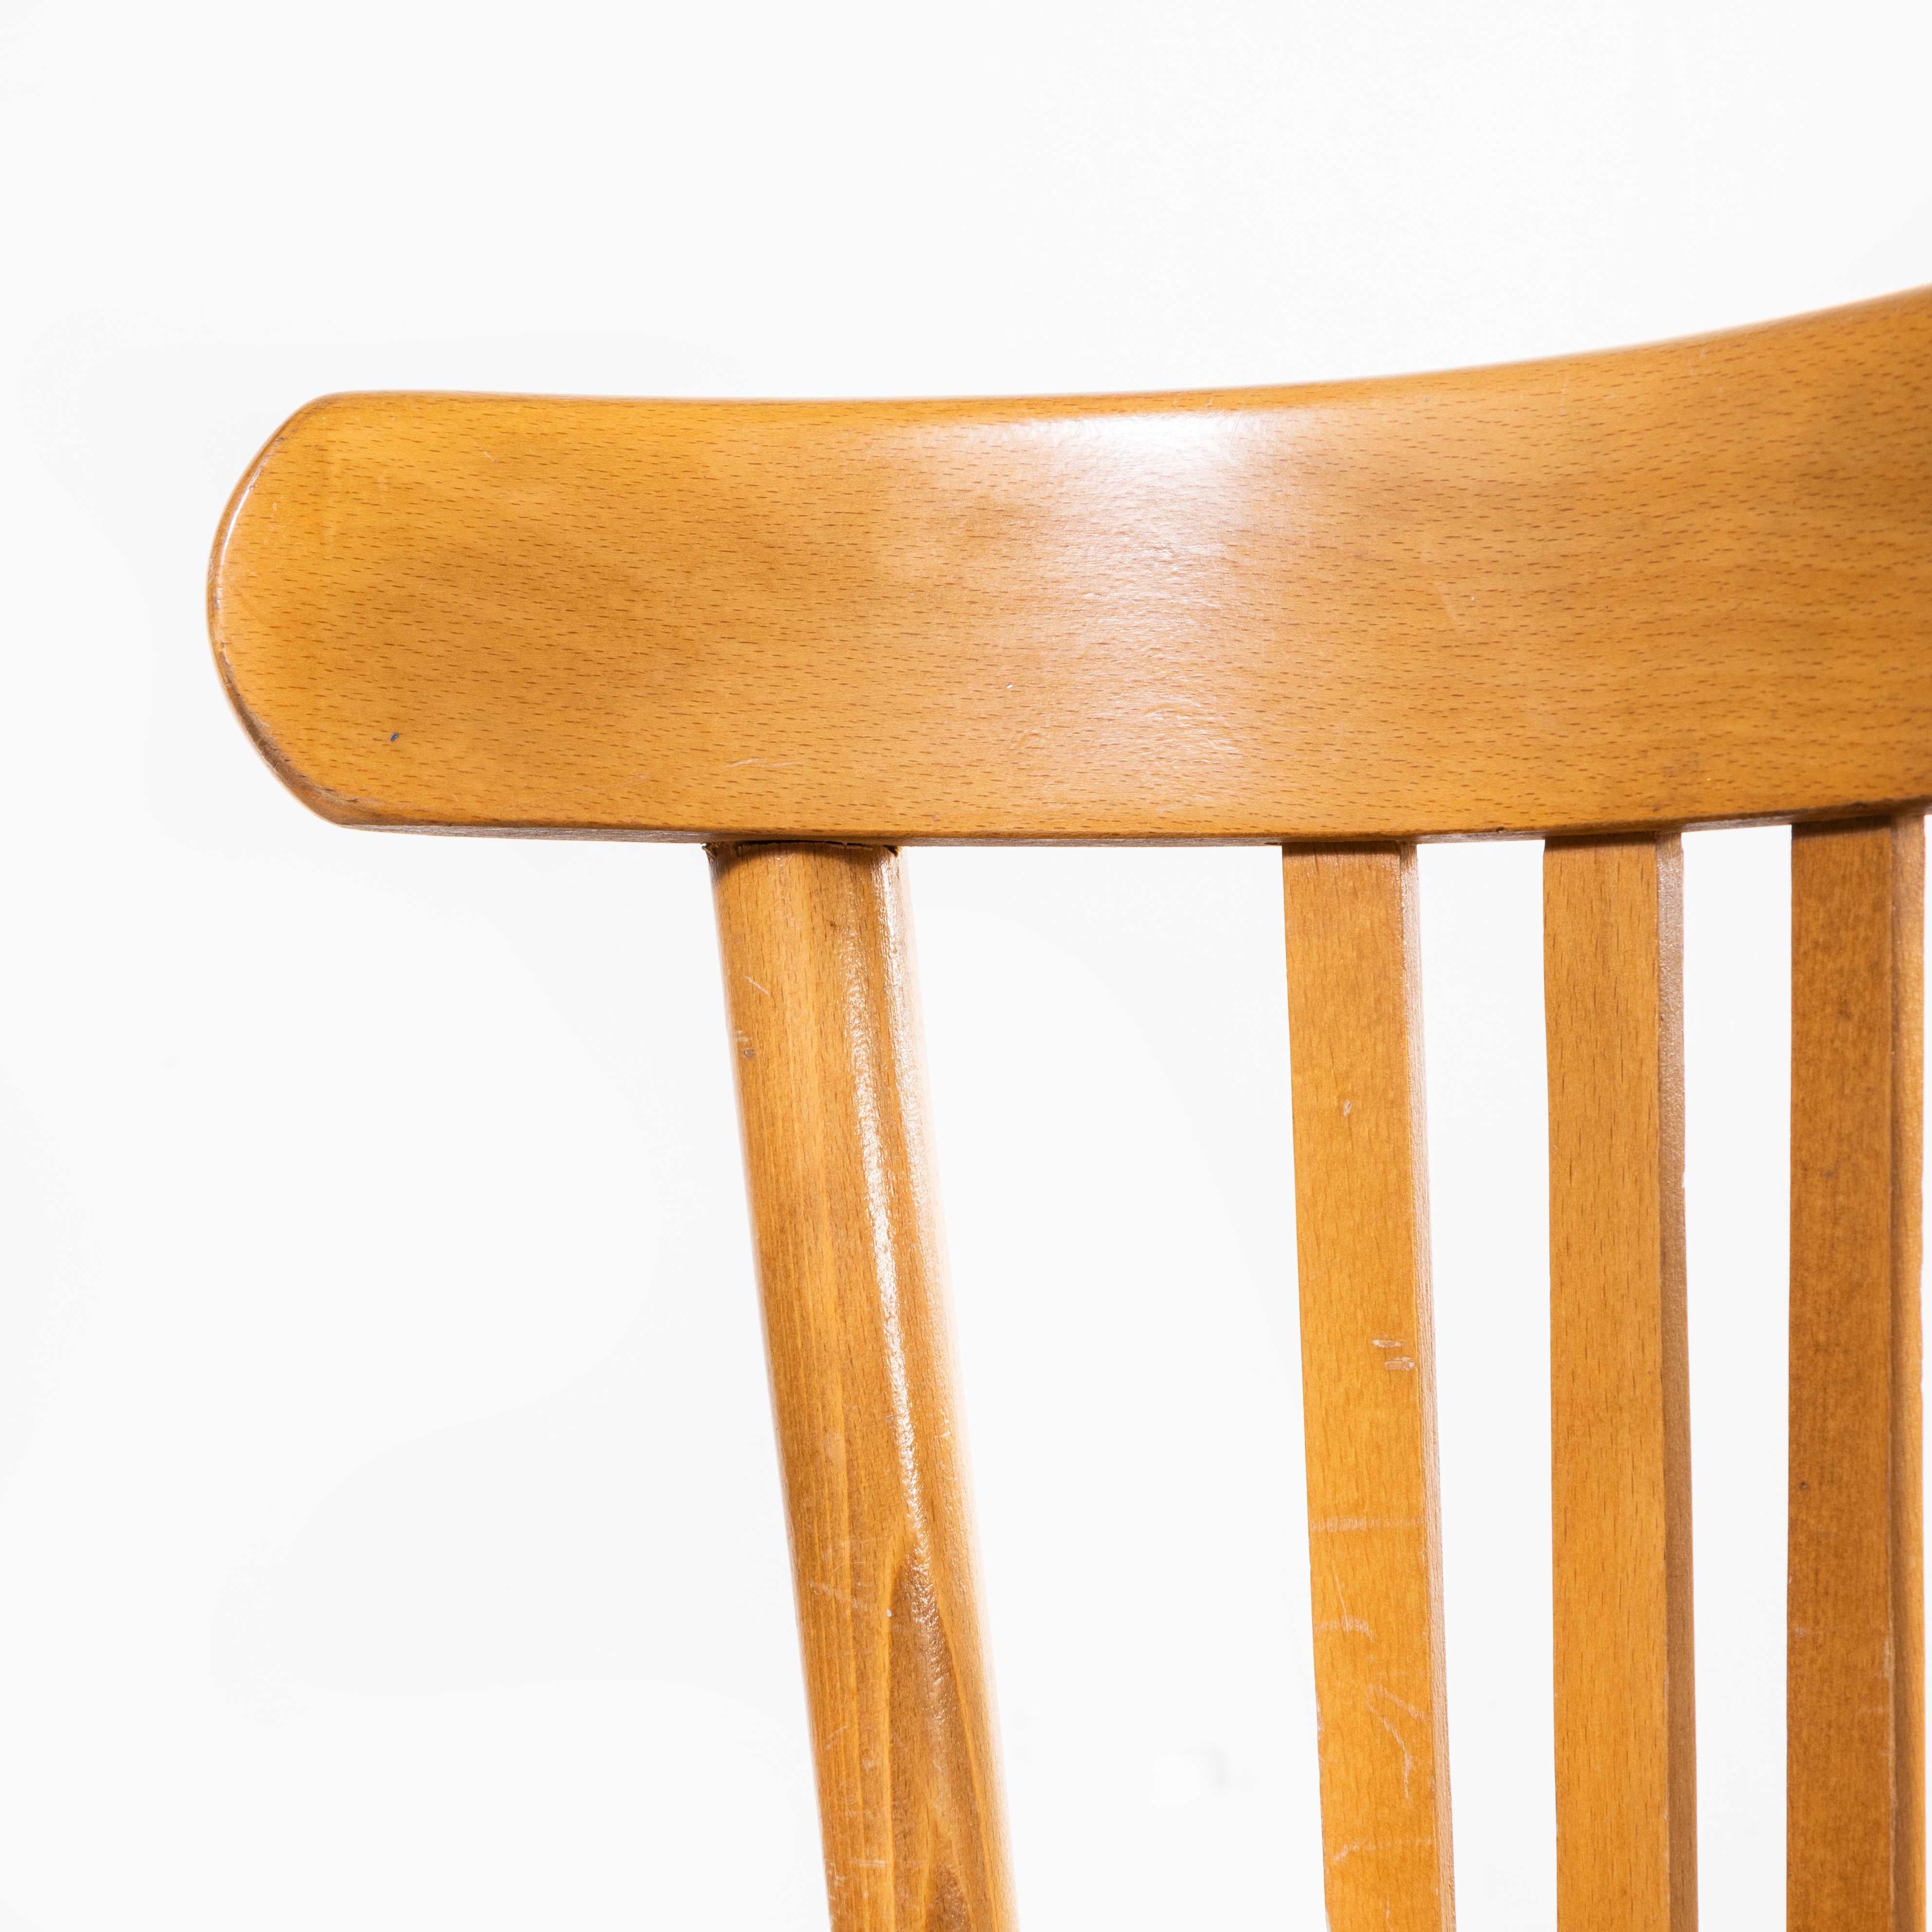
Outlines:
{"label": "darker wooden slat at the right edge of the photo", "polygon": [[1924,1932],[1924,825],[1791,838],[1791,1932]]}

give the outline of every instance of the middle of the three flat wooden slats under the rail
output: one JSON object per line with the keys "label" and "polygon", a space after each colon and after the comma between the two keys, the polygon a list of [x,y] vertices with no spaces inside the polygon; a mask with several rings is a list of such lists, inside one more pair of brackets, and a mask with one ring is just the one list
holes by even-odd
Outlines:
{"label": "middle of the three flat wooden slats under the rail", "polygon": [[1683,858],[1544,854],[1557,1924],[1696,1926]]}

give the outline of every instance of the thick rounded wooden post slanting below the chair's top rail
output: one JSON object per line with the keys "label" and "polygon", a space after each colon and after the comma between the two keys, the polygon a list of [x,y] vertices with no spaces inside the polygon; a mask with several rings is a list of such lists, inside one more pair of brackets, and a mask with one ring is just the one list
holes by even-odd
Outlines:
{"label": "thick rounded wooden post slanting below the chair's top rail", "polygon": [[713,854],[835,1932],[1010,1932],[893,852]]}

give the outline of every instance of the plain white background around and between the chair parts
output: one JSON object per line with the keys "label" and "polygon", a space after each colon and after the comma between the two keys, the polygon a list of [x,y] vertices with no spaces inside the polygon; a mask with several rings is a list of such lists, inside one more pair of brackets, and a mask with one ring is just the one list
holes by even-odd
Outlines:
{"label": "plain white background around and between the chair parts", "polygon": [[[705,866],[307,817],[355,386],[1298,381],[1932,280],[1924,6],[0,4],[0,1926],[823,1926]],[[1706,1928],[1779,1922],[1787,840],[1687,840]],[[920,852],[1020,1897],[1318,1926],[1281,885]],[[1457,1884],[1553,1922],[1534,844],[1424,856]]]}

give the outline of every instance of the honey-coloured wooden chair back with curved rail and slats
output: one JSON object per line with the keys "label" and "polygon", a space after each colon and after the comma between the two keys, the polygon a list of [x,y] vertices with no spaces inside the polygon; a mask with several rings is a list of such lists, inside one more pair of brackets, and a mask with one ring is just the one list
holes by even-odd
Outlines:
{"label": "honey-coloured wooden chair back with curved rail and slats", "polygon": [[1789,1924],[1917,1928],[1932,290],[1291,390],[332,396],[214,655],[325,817],[711,848],[838,1932],[1014,1922],[895,848],[1283,846],[1335,1932],[1453,1920],[1414,840],[1542,837],[1557,1897],[1696,1913],[1679,831],[1791,821]]}

